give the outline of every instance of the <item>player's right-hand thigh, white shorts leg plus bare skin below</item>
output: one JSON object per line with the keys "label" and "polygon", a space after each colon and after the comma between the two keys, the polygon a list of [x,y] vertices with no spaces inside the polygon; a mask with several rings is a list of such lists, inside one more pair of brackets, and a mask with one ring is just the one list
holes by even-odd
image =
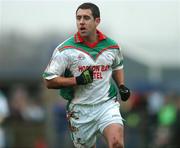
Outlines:
{"label": "player's right-hand thigh, white shorts leg plus bare skin below", "polygon": [[120,114],[120,104],[115,100],[110,100],[101,109],[103,114],[99,120],[99,130],[104,135],[109,148],[123,147],[124,128],[123,118]]}

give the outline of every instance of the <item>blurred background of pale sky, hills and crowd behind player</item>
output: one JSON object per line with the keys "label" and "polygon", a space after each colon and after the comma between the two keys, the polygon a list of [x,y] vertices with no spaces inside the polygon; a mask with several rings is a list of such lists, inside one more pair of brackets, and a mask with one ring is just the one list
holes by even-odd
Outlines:
{"label": "blurred background of pale sky, hills and crowd behind player", "polygon": [[[75,11],[86,1],[0,0],[0,148],[71,148],[66,101],[42,73],[54,48],[76,33]],[[124,55],[121,103],[126,148],[179,148],[180,1],[92,0],[99,30]],[[97,148],[106,148],[99,137]]]}

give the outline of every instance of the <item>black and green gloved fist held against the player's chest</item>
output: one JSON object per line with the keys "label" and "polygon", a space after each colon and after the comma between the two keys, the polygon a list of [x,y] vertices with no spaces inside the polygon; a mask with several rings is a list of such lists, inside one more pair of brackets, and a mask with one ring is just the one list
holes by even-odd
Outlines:
{"label": "black and green gloved fist held against the player's chest", "polygon": [[80,74],[80,76],[76,77],[77,85],[85,85],[92,82],[93,82],[93,70],[90,67],[84,70]]}

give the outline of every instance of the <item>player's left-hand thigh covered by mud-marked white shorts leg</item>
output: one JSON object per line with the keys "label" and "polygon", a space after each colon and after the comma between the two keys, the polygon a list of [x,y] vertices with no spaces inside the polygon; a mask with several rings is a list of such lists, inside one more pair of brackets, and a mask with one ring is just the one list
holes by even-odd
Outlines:
{"label": "player's left-hand thigh covered by mud-marked white shorts leg", "polygon": [[79,148],[94,147],[97,127],[93,116],[89,116],[88,109],[78,105],[70,106],[69,113],[73,113],[68,121],[74,146]]}

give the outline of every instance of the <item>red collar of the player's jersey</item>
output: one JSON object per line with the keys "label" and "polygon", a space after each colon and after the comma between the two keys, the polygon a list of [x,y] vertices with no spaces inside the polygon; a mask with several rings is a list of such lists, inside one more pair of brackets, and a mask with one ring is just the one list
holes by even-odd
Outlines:
{"label": "red collar of the player's jersey", "polygon": [[100,32],[99,30],[96,30],[97,34],[98,34],[98,40],[94,43],[89,43],[89,42],[85,42],[83,40],[83,38],[80,36],[80,33],[77,32],[75,35],[74,35],[74,41],[75,43],[84,43],[85,45],[87,45],[88,47],[90,48],[94,48],[100,41],[106,39],[107,37],[102,33]]}

